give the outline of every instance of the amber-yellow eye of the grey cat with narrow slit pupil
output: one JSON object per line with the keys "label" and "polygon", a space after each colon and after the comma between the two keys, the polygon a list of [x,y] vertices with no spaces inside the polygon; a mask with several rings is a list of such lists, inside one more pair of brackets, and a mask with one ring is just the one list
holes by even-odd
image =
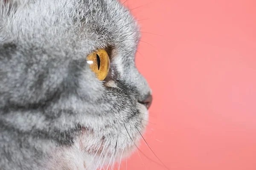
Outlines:
{"label": "amber-yellow eye of the grey cat with narrow slit pupil", "polygon": [[107,77],[110,67],[107,51],[99,49],[98,51],[89,54],[87,56],[87,63],[99,80],[104,80]]}

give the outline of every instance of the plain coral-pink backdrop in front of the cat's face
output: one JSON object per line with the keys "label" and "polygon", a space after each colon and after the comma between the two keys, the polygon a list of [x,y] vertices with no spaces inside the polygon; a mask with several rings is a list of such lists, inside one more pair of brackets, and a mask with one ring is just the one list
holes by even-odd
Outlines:
{"label": "plain coral-pink backdrop in front of the cat's face", "polygon": [[[148,144],[170,170],[256,170],[256,1],[151,1],[124,3],[143,31],[136,60],[153,91]],[[164,170],[137,152],[127,164]]]}

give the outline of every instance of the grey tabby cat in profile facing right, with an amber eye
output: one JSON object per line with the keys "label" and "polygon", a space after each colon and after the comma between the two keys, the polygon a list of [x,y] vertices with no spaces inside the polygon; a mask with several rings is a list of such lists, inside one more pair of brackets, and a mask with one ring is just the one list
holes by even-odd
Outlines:
{"label": "grey tabby cat in profile facing right, with an amber eye", "polygon": [[[128,156],[152,101],[139,37],[116,0],[0,0],[0,170],[94,170]],[[87,59],[103,68],[99,50],[103,80]]]}

